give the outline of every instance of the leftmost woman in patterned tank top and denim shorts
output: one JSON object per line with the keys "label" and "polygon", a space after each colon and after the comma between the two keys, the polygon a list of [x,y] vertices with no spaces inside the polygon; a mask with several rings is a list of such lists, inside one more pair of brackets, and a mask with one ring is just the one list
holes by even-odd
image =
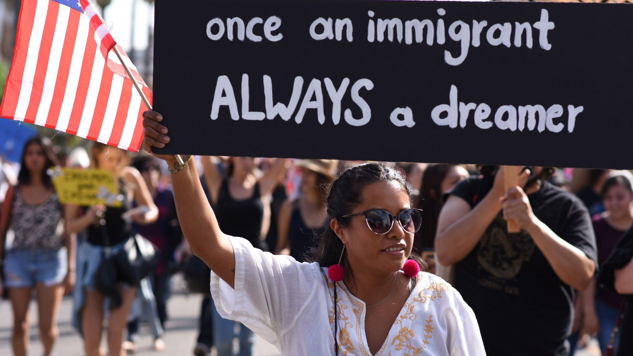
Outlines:
{"label": "leftmost woman in patterned tank top and denim shorts", "polygon": [[[75,285],[75,235],[63,233],[62,207],[47,170],[56,164],[49,139],[35,136],[24,146],[18,184],[11,186],[0,219],[0,257],[13,307],[13,353],[27,355],[31,293],[37,294],[44,356],[59,336],[61,298]],[[7,232],[13,242],[3,251]]]}

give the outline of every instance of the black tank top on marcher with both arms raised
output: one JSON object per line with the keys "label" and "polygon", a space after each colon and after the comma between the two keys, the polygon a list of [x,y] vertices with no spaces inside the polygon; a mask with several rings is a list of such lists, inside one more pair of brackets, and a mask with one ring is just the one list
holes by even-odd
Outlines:
{"label": "black tank top on marcher with both arms raised", "polygon": [[253,195],[245,200],[235,200],[229,193],[229,180],[222,181],[215,216],[220,230],[227,235],[247,239],[255,248],[267,251],[261,240],[264,221],[264,203],[261,201],[260,184],[255,184]]}

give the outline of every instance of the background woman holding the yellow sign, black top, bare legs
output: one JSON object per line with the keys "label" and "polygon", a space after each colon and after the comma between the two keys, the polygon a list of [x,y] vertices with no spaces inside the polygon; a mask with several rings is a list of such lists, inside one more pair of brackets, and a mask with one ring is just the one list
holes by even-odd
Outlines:
{"label": "background woman holding the yellow sign, black top, bare legs", "polygon": [[[123,248],[128,238],[134,236],[132,222],[151,224],[158,217],[147,185],[138,170],[127,167],[128,154],[122,149],[93,143],[91,151],[92,168],[110,170],[118,184],[122,207],[90,207],[79,216],[80,207],[67,205],[65,208],[66,230],[87,231],[87,241],[78,253],[78,285],[73,298],[73,324],[82,331],[87,356],[99,356],[103,329],[104,295],[96,290],[94,276],[104,258],[103,251],[111,253]],[[131,215],[131,220],[123,219],[123,214],[132,208],[132,202],[146,206],[146,210]],[[104,222],[104,225],[101,223]],[[119,283],[121,305],[114,305],[108,321],[108,349],[110,355],[125,355],[122,350],[123,329],[136,295],[137,286]]]}

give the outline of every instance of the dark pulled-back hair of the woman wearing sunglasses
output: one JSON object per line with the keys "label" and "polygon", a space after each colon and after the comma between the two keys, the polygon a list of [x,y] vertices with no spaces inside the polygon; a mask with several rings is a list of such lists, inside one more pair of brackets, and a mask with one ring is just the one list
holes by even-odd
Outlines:
{"label": "dark pulled-back hair of the woman wearing sunglasses", "polygon": [[[326,189],[328,220],[325,231],[318,238],[316,248],[311,253],[311,262],[318,262],[321,267],[330,267],[339,263],[343,243],[336,235],[330,222],[336,219],[342,227],[349,227],[351,218],[343,218],[343,215],[355,213],[354,209],[363,202],[363,188],[376,182],[398,182],[413,203],[413,189],[406,181],[404,175],[385,163],[370,162],[361,163],[342,171]],[[343,256],[341,264],[346,270],[349,264],[346,256]],[[426,264],[422,258],[411,253],[410,258],[418,262],[420,269],[425,270]]]}

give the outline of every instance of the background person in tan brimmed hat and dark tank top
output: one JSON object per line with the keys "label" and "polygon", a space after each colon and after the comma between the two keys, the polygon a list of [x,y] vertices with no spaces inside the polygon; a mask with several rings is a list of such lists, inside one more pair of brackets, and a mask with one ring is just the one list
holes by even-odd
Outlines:
{"label": "background person in tan brimmed hat and dark tank top", "polygon": [[287,199],[282,205],[277,254],[291,255],[304,262],[325,227],[324,189],[334,179],[338,162],[299,160],[295,164],[301,168],[301,194]]}

